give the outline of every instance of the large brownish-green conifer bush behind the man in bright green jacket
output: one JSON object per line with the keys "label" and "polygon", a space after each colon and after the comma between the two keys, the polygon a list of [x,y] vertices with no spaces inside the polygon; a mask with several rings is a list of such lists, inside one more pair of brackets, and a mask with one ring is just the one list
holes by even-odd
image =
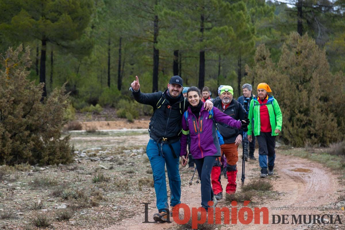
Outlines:
{"label": "large brownish-green conifer bush behind the man in bright green jacket", "polygon": [[[324,50],[305,34],[290,34],[280,60],[270,60],[264,45],[258,47],[255,67],[248,70],[254,88],[270,85],[283,114],[283,139],[293,146],[328,146],[344,138],[344,75],[332,74]],[[335,90],[329,90],[335,89]]]}

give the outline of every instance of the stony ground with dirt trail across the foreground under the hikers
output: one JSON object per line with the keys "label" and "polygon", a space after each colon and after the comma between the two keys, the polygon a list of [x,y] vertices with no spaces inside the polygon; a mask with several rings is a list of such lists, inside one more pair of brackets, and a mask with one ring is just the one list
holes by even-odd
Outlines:
{"label": "stony ground with dirt trail across the foreground under the hikers", "polygon": [[[117,127],[126,126],[127,123],[125,119],[116,122],[121,123]],[[16,168],[2,166],[0,228],[39,229],[34,224],[38,221],[50,221],[48,229],[61,230],[186,229],[187,227],[180,226],[174,221],[164,224],[142,223],[145,220],[142,203],[150,203],[150,221],[152,214],[156,212],[152,170],[145,153],[149,139],[146,130],[148,122],[145,120],[141,125],[137,125],[137,122],[134,130],[110,131],[98,126],[98,131],[93,133],[66,133],[71,135],[71,143],[76,149],[75,163],[70,165],[22,165]],[[248,207],[267,207],[270,223],[272,214],[338,214],[342,224],[338,222],[244,226],[238,223],[221,224],[208,229],[345,229],[345,211],[342,210],[345,206],[344,175],[322,164],[290,157],[288,151],[292,150],[277,148],[275,175],[266,179],[273,184],[273,191],[255,192]],[[239,149],[239,152],[242,152],[242,149]],[[255,155],[257,156],[257,152]],[[240,191],[242,161],[237,165],[237,188]],[[181,167],[180,174],[181,202],[189,207],[199,207],[200,184],[194,180],[191,186],[188,185],[193,172],[187,168]],[[245,182],[257,180],[258,175],[258,162],[248,161]],[[222,184],[226,184],[223,177]],[[231,205],[223,199],[217,207]],[[239,203],[238,209],[241,207],[243,203]],[[285,207],[285,210],[277,210],[277,207]],[[286,210],[286,207],[314,207],[314,210],[290,211]]]}

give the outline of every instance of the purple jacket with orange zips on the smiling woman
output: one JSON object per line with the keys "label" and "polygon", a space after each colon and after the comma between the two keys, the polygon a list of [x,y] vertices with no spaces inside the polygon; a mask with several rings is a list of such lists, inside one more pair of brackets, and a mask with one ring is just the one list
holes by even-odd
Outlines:
{"label": "purple jacket with orange zips on the smiling woman", "polygon": [[[217,136],[217,130],[213,120],[210,118],[208,111],[201,107],[199,119],[195,117],[188,107],[187,123],[185,116],[182,117],[182,137],[180,156],[187,154],[187,139],[190,134],[190,153],[194,159],[201,159],[206,156],[220,157],[220,145]],[[241,128],[241,121],[237,121],[232,117],[213,107],[214,120],[223,122],[236,129]]]}

